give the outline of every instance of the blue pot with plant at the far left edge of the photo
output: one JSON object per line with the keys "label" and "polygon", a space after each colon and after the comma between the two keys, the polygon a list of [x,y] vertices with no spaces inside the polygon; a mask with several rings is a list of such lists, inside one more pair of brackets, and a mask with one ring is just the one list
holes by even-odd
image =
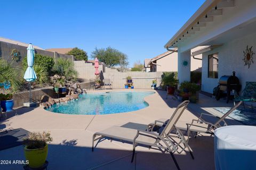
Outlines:
{"label": "blue pot with plant at the far left edge of the photo", "polygon": [[13,109],[12,94],[0,94],[0,105],[3,108],[3,112],[11,112]]}

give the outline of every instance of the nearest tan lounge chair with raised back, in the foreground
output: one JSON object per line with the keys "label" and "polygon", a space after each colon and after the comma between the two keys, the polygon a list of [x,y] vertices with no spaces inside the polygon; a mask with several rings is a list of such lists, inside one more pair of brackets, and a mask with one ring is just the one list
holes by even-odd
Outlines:
{"label": "nearest tan lounge chair with raised back, in the foreground", "polygon": [[[93,134],[93,137],[92,137],[92,151],[94,148],[94,141],[100,140],[102,138],[107,138],[110,140],[113,140],[113,139],[122,140],[126,142],[131,142],[133,144],[133,154],[132,154],[131,162],[133,162],[133,159],[134,159],[135,147],[137,145],[142,145],[142,146],[147,146],[149,148],[161,150],[162,152],[169,152],[172,156],[172,159],[176,167],[180,169],[173,153],[175,151],[179,152],[178,149],[181,147],[180,146],[181,143],[183,143],[184,145],[184,148],[182,147],[181,151],[183,151],[185,148],[188,148],[191,157],[194,159],[194,156],[182,132],[177,128],[177,126],[175,126],[181,114],[187,107],[188,103],[189,101],[183,101],[183,103],[181,103],[175,109],[169,122],[167,122],[166,126],[163,128],[162,132],[160,133],[124,128],[120,126],[112,126],[106,130],[96,132]],[[180,142],[175,142],[173,140],[171,135],[171,132],[173,130],[177,130],[178,139],[180,139]]]}

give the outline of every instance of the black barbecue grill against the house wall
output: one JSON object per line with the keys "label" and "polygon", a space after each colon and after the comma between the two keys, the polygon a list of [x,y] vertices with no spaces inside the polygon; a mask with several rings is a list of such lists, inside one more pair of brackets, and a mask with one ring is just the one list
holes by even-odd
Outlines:
{"label": "black barbecue grill against the house wall", "polygon": [[241,84],[239,79],[236,77],[236,72],[233,71],[233,75],[223,75],[219,80],[219,91],[217,100],[220,99],[221,93],[227,92],[227,103],[230,99],[230,92],[236,91],[237,94],[241,90]]}

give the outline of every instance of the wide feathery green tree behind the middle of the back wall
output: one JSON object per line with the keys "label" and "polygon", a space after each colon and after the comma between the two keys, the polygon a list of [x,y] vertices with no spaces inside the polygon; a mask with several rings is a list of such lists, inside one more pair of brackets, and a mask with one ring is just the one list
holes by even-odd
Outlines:
{"label": "wide feathery green tree behind the middle of the back wall", "polygon": [[129,64],[127,61],[127,55],[120,52],[115,48],[95,48],[91,55],[92,58],[98,58],[100,62],[106,64],[107,67],[113,67],[115,65],[120,65],[122,70]]}

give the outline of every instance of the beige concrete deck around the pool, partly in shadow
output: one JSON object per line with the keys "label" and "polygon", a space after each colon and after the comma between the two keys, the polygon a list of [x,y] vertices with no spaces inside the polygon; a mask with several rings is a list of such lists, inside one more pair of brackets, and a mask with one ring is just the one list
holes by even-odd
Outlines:
{"label": "beige concrete deck around the pool, partly in shadow", "polygon": [[[124,91],[105,90],[105,91]],[[133,90],[155,91],[155,90]],[[93,91],[98,92],[98,91]],[[100,90],[99,92],[104,92]],[[132,145],[118,141],[103,140],[98,143],[95,151],[91,151],[94,132],[113,125],[124,125],[129,122],[148,124],[159,118],[170,118],[179,101],[165,99],[166,92],[157,90],[145,101],[148,107],[139,111],[108,114],[108,115],[68,115],[45,111],[42,107],[17,109],[17,116],[0,121],[0,130],[23,128],[32,131],[51,131],[53,142],[49,145],[48,169],[176,169],[170,154],[137,147],[134,163],[131,163]],[[214,102],[213,102],[214,101]],[[217,114],[212,106],[222,106],[221,101],[215,101],[201,95],[198,104],[189,104],[178,125],[186,128],[200,113]],[[231,106],[231,104],[228,104]],[[239,124],[231,120],[230,124]],[[188,152],[175,153],[175,158],[181,169],[214,169],[213,137],[204,135],[191,138],[189,145],[195,159]],[[1,160],[25,160],[23,146],[0,151]],[[22,169],[22,165],[0,165],[0,169]]]}

